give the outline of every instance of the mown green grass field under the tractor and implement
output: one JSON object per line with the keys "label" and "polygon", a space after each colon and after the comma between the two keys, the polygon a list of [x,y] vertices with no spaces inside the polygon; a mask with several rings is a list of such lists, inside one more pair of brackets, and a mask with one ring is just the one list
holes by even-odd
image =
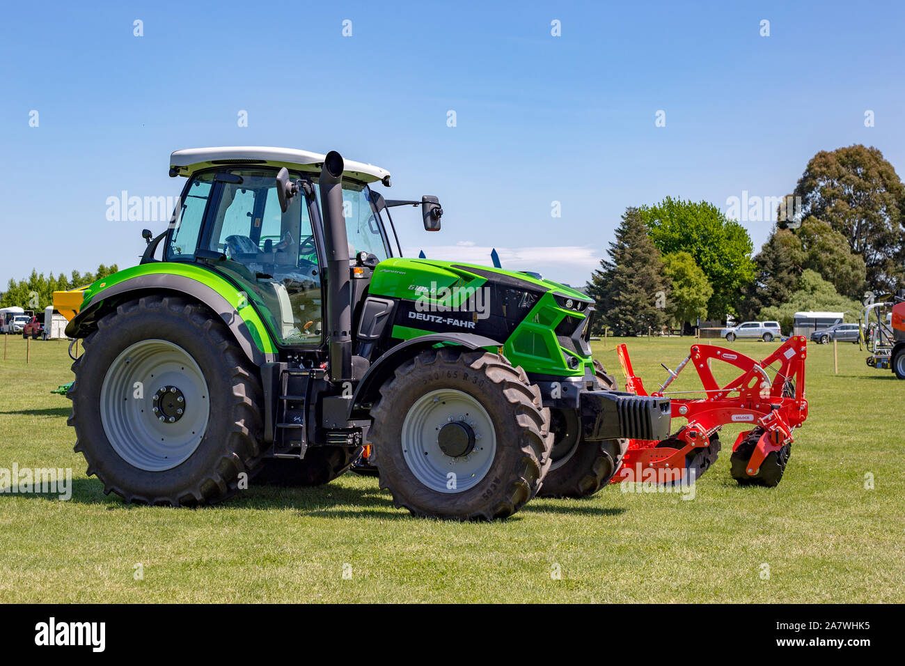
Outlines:
{"label": "mown green grass field under the tractor and implement", "polygon": [[[835,375],[832,345],[809,345],[811,416],[776,488],[729,477],[727,428],[692,501],[611,486],[457,524],[411,518],[350,474],[217,507],[126,506],[85,477],[70,401],[49,392],[71,380],[66,343],[33,342],[26,365],[6,337],[0,468],[72,468],[73,495],[0,495],[0,602],[905,602],[905,381],[857,345],[839,345]],[[622,342],[651,388],[693,341]],[[620,376],[612,340],[595,356]],[[673,389],[696,387],[686,372]]]}

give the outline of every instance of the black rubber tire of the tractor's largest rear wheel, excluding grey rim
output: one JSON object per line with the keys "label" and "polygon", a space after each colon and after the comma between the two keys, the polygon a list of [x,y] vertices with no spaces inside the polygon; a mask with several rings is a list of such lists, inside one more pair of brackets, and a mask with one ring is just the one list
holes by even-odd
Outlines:
{"label": "black rubber tire of the tractor's largest rear wheel, excluding grey rim", "polygon": [[[101,385],[111,363],[131,345],[148,340],[163,340],[186,352],[204,373],[209,392],[209,414],[197,447],[176,467],[161,471],[137,467],[120,456],[100,414]],[[67,397],[72,401],[68,422],[78,438],[75,450],[84,455],[88,475],[100,479],[106,494],[150,505],[210,504],[235,493],[240,475],[252,474],[260,462],[263,398],[257,369],[220,317],[199,304],[178,296],[146,296],[119,305],[85,338],[72,371],[75,381]],[[151,392],[146,393],[148,401]]]}

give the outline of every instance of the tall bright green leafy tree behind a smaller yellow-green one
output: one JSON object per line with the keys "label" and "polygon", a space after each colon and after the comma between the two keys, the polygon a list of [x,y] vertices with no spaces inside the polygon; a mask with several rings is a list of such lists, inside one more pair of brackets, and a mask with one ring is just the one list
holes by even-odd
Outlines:
{"label": "tall bright green leafy tree behind a smaller yellow-green one", "polygon": [[754,279],[754,246],[748,231],[707,201],[664,198],[641,208],[653,244],[663,255],[688,252],[707,275],[711,318],[737,314],[742,290]]}

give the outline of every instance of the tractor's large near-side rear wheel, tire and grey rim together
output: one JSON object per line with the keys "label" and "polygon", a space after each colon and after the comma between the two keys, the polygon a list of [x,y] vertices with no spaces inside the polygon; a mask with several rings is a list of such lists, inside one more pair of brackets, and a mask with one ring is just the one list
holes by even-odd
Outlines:
{"label": "tractor's large near-side rear wheel, tire and grey rim together", "polygon": [[210,504],[260,462],[261,381],[220,318],[179,296],[119,305],[72,364],[69,424],[104,492]]}

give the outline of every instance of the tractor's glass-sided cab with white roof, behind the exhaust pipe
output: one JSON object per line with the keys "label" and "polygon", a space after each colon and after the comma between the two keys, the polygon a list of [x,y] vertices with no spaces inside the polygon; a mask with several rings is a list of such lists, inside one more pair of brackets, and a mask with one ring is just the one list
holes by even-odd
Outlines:
{"label": "tractor's glass-sided cab with white roof, behind the exhaust pipe", "polygon": [[[325,342],[323,288],[335,248],[328,247],[320,212],[324,159],[275,148],[177,150],[170,159],[170,175],[188,180],[163,238],[163,260],[204,263],[225,275],[284,346]],[[387,215],[385,223],[386,206],[378,206],[385,202],[369,188],[389,179],[386,169],[345,161],[343,254],[357,278],[353,306],[367,293],[374,267],[394,255],[392,220]],[[153,261],[148,253],[146,260]]]}

